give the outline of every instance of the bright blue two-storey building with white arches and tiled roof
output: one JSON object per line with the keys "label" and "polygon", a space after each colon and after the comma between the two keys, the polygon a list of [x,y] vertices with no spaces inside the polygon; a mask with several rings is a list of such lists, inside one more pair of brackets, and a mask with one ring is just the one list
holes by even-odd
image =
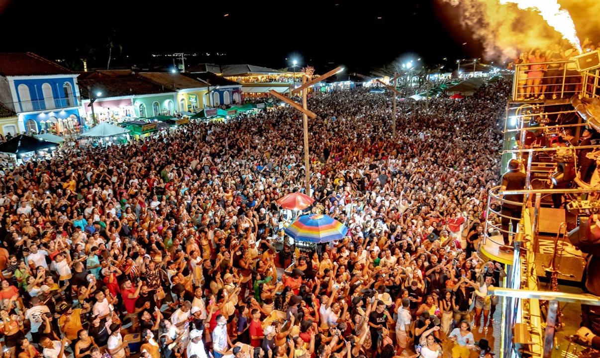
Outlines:
{"label": "bright blue two-storey building with white arches and tiled roof", "polygon": [[0,103],[19,117],[19,133],[77,129],[83,112],[77,74],[34,53],[0,53]]}

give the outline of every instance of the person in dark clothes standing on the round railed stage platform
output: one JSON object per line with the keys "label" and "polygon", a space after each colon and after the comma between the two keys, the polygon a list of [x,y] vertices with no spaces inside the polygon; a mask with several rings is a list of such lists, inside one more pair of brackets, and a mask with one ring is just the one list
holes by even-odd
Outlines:
{"label": "person in dark clothes standing on the round railed stage platform", "polygon": [[[506,190],[522,190],[525,188],[525,173],[519,170],[519,161],[511,159],[508,162],[508,172],[502,176],[502,186],[500,186],[500,192]],[[517,203],[523,203],[523,194],[500,194],[500,198],[509,201],[515,201]],[[502,203],[502,236],[504,237],[504,244],[509,245],[509,232],[515,233],[517,230],[517,223],[521,219],[522,205]],[[512,224],[512,231],[509,231],[509,224]]]}

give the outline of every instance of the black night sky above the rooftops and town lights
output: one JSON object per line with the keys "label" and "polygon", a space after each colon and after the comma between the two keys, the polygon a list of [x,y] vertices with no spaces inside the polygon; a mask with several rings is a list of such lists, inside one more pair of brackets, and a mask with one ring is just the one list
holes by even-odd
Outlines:
{"label": "black night sky above the rooftops and town lights", "polygon": [[283,68],[297,58],[299,65],[311,64],[317,72],[345,65],[362,73],[398,57],[421,57],[434,65],[442,58],[453,63],[481,55],[481,46],[453,20],[456,10],[437,0],[154,4],[0,0],[0,51],[31,51],[64,59],[71,67],[86,57],[91,67],[106,67],[112,38],[112,67],[151,61],[153,53],[195,52],[211,55],[188,58],[189,64]]}

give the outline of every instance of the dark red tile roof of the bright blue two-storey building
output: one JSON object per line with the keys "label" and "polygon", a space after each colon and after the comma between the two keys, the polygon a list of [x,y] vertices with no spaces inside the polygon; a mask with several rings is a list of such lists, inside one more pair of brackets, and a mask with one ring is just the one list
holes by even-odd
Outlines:
{"label": "dark red tile roof of the bright blue two-storey building", "polygon": [[73,74],[73,71],[31,52],[0,53],[0,75],[2,76],[50,74]]}

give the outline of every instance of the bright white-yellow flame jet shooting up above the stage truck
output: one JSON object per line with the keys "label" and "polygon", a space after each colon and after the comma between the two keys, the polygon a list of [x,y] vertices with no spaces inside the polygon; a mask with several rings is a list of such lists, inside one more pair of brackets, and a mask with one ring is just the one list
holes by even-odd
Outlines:
{"label": "bright white-yellow flame jet shooting up above the stage truck", "polygon": [[500,0],[500,4],[503,5],[508,2],[517,4],[517,7],[521,10],[538,11],[548,25],[552,26],[562,35],[562,38],[579,50],[579,53],[582,52],[571,14],[569,14],[569,11],[560,8],[558,0]]}

